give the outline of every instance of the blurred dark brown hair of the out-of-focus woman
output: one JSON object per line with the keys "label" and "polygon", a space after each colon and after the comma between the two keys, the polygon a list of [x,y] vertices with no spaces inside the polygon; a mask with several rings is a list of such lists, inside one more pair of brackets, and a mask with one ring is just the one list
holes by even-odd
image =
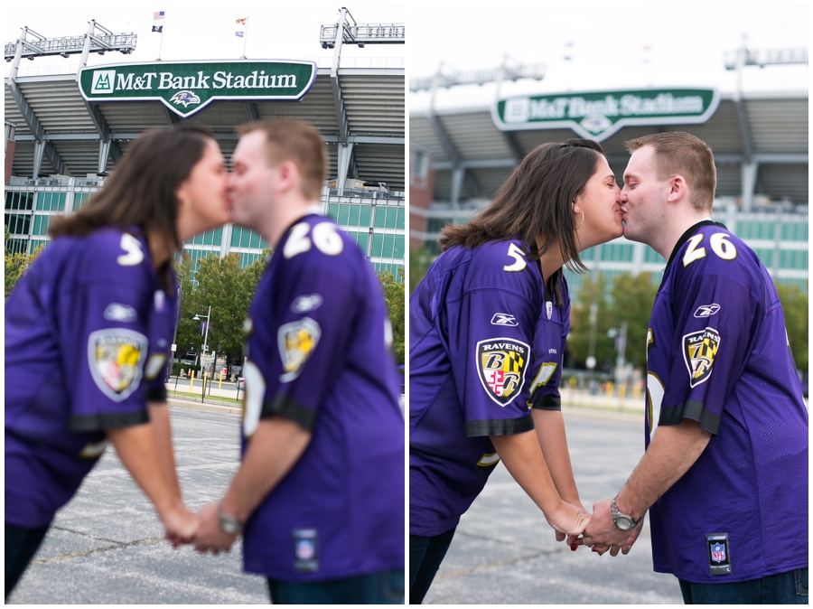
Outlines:
{"label": "blurred dark brown hair of the out-of-focus woman", "polygon": [[51,225],[51,237],[80,237],[104,226],[123,230],[137,226],[145,237],[157,231],[171,248],[180,247],[175,192],[189,178],[211,139],[211,131],[203,126],[147,131],[130,146],[85,207]]}

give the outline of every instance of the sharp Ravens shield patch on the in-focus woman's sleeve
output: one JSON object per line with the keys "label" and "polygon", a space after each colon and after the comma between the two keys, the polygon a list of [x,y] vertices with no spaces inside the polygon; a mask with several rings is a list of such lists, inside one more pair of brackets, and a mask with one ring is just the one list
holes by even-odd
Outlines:
{"label": "sharp Ravens shield patch on the in-focus woman's sleeve", "polygon": [[489,398],[506,406],[519,395],[525,382],[530,349],[511,338],[493,338],[477,343],[477,371]]}

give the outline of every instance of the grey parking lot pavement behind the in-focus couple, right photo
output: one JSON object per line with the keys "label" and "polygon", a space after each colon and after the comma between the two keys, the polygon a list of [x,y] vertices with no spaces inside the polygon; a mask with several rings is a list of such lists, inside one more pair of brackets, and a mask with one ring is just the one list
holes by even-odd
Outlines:
{"label": "grey parking lot pavement behind the in-focus couple, right photo", "polygon": [[[642,416],[572,412],[565,410],[568,445],[582,502],[592,510],[638,464]],[[627,556],[572,552],[500,464],[463,515],[424,604],[682,604],[677,579],[652,571],[644,526]]]}

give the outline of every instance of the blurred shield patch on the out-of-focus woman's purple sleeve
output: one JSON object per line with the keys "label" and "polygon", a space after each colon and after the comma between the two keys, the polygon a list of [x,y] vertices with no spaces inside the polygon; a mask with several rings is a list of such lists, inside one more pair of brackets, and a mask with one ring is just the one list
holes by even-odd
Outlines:
{"label": "blurred shield patch on the out-of-focus woman's purple sleeve", "polygon": [[98,389],[115,402],[124,401],[141,383],[147,339],[125,328],[90,333],[88,363]]}

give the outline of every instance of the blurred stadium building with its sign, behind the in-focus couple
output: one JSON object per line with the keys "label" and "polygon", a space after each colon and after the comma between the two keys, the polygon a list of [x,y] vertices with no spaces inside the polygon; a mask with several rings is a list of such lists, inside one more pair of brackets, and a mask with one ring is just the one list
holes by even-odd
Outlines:
{"label": "blurred stadium building with its sign, behind the in-focus couple", "polygon": [[[807,51],[743,57],[743,63],[807,63]],[[411,91],[544,76],[542,66],[481,70],[411,80]],[[434,95],[433,95],[434,100]],[[745,240],[778,283],[808,291],[808,92],[720,94],[715,89],[637,89],[523,95],[492,104],[410,111],[410,246],[439,253],[447,222],[463,223],[491,201],[534,147],[570,137],[601,142],[623,183],[630,155],[624,141],[660,131],[687,131],[715,153],[713,219]],[[620,238],[582,259],[612,277],[649,271],[659,282],[666,261]],[[565,270],[571,295],[583,276]],[[609,289],[609,285],[608,285]]]}

